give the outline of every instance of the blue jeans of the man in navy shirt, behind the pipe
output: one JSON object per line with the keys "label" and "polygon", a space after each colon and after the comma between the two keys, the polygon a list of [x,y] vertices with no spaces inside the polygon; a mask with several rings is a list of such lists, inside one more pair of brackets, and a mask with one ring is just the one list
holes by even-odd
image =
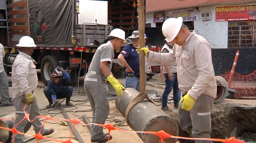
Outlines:
{"label": "blue jeans of the man in navy shirt, behind the pipe", "polygon": [[139,77],[134,75],[133,77],[126,76],[125,77],[125,85],[124,87],[132,87],[136,89],[138,92],[141,92],[141,83],[139,82]]}

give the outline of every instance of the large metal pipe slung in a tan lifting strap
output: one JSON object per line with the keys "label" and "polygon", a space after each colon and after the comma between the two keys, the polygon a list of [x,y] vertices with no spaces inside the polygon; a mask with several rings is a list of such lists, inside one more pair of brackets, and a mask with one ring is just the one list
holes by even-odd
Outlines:
{"label": "large metal pipe slung in a tan lifting strap", "polygon": [[[139,94],[133,88],[126,88],[126,90],[129,94],[124,92],[122,96],[117,96],[115,99],[115,106],[124,117],[125,111],[132,102],[132,99]],[[128,122],[134,131],[158,132],[163,130],[172,136],[179,135],[178,124],[160,108],[146,99],[131,109],[128,115]],[[138,133],[138,136],[144,143],[159,143],[161,141],[154,134]],[[177,139],[174,138],[164,139],[165,143],[176,143],[176,141]]]}

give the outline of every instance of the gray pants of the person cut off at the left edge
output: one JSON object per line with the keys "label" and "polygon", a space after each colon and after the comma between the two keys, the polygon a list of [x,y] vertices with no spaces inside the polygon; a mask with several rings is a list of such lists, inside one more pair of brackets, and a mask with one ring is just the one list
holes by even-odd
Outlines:
{"label": "gray pants of the person cut off at the left edge", "polygon": [[1,103],[6,104],[9,102],[9,82],[5,70],[0,73],[0,93]]}

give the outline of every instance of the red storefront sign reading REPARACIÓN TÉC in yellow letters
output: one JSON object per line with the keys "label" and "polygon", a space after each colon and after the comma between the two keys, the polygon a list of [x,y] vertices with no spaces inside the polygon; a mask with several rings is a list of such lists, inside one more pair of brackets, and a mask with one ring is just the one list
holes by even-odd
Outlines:
{"label": "red storefront sign reading REPARACI\u00d3N T\u00c9C in yellow letters", "polygon": [[256,20],[256,5],[215,8],[216,21]]}

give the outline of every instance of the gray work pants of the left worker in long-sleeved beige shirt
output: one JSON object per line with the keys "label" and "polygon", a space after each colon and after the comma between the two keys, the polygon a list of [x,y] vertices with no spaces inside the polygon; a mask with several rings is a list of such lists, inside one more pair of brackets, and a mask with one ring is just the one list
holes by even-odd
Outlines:
{"label": "gray work pants of the left worker in long-sleeved beige shirt", "polygon": [[[26,105],[25,102],[22,102],[22,99],[24,97],[25,97],[25,95],[13,99],[13,104],[14,104],[14,107],[16,108],[15,114],[17,116],[16,119],[14,120],[14,122],[13,122],[13,128],[15,127],[17,129],[17,131],[19,131],[19,132],[24,132],[24,127],[26,126],[26,124],[28,122],[27,119],[24,119],[25,114],[24,114],[23,109]],[[35,97],[35,101],[32,104],[30,104],[28,107],[25,108],[25,112],[29,114],[30,121],[34,120],[37,116],[40,116],[39,107],[38,107],[38,104],[36,102],[36,97]],[[23,121],[20,122],[21,120],[23,120]],[[35,133],[36,134],[39,133],[39,131],[42,127],[42,123],[40,122],[39,118],[36,118],[31,123],[32,123],[32,126],[34,127]],[[46,129],[42,128],[40,133],[44,134],[45,132],[46,132]],[[12,138],[11,142],[13,143],[13,138],[14,137],[12,136],[11,138]],[[15,134],[14,143],[22,142],[23,138],[24,138],[24,135]]]}

